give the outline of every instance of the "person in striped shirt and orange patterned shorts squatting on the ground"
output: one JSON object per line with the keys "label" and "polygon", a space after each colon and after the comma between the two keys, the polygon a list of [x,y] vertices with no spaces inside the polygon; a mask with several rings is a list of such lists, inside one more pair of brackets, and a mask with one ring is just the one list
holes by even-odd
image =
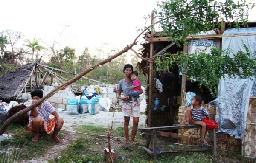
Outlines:
{"label": "person in striped shirt and orange patterned shorts squatting on the ground", "polygon": [[[43,97],[42,90],[34,90],[31,92],[32,104]],[[49,117],[49,113],[54,115],[54,118]],[[58,132],[64,123],[63,118],[58,114],[54,107],[48,102],[44,101],[38,107],[33,108],[28,112],[29,114],[29,131],[35,133],[32,141],[38,141],[39,132],[52,133],[52,140],[56,143],[62,143],[62,140],[57,137]]]}

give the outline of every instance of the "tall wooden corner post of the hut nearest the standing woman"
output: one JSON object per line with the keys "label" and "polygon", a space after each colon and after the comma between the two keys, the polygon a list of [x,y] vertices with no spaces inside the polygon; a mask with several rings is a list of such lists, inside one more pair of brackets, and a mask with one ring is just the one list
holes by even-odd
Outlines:
{"label": "tall wooden corner post of the hut nearest the standing woman", "polygon": [[[151,24],[154,24],[154,12],[151,14]],[[150,38],[154,37],[154,28],[151,29]],[[150,42],[150,53],[149,57],[152,57],[154,53],[154,42]],[[149,63],[149,74],[148,74],[148,126],[151,126],[151,114],[153,110],[153,97],[152,97],[152,82],[153,82],[153,63]]]}

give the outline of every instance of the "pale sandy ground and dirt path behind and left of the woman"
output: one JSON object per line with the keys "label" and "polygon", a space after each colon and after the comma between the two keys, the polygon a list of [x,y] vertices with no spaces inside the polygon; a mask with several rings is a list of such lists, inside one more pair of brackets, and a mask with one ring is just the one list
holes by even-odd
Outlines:
{"label": "pale sandy ground and dirt path behind and left of the woman", "polygon": [[[60,113],[60,115],[64,118],[64,125],[62,129],[75,131],[73,129],[74,126],[83,126],[83,125],[95,125],[95,126],[103,126],[108,127],[111,124],[113,119],[114,112],[103,112],[99,111],[98,114],[90,115],[89,113],[86,114],[79,114],[79,115],[67,115],[66,112]],[[145,115],[141,115],[138,128],[145,127]],[[130,119],[129,130],[132,129],[132,120]],[[124,117],[122,112],[115,112],[114,121],[113,121],[113,129],[118,126],[123,126]],[[107,135],[107,134],[106,134]],[[51,160],[55,157],[58,157],[60,151],[65,149],[67,145],[76,141],[76,133],[74,132],[65,132],[62,135],[63,143],[56,144],[55,146],[51,147],[51,150],[47,152],[45,157],[40,157],[33,160],[23,160],[22,163],[47,163],[47,160]],[[120,146],[124,142],[116,142],[116,146]]]}

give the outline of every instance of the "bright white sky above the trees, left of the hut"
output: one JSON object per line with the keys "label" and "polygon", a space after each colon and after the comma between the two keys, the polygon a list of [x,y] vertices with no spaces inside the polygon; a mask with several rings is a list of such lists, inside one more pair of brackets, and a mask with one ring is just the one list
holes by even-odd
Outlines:
{"label": "bright white sky above the trees, left of the hut", "polygon": [[[10,29],[24,34],[23,39],[41,39],[47,47],[54,40],[81,53],[91,53],[102,43],[121,49],[131,44],[143,28],[156,0],[4,0],[0,12],[0,31]],[[149,21],[150,22],[150,21]],[[24,44],[24,42],[22,42]],[[138,46],[137,46],[138,48]]]}

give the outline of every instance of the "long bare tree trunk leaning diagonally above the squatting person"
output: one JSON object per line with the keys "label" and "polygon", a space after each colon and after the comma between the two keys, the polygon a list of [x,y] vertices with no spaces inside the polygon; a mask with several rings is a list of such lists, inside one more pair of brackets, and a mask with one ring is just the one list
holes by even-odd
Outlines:
{"label": "long bare tree trunk leaning diagonally above the squatting person", "polygon": [[119,51],[118,53],[116,53],[113,56],[108,57],[107,59],[96,63],[95,65],[92,65],[90,68],[88,68],[87,70],[84,70],[83,72],[81,72],[79,75],[75,76],[73,79],[70,79],[69,81],[67,81],[66,83],[62,84],[59,87],[56,87],[54,90],[52,90],[51,92],[49,92],[47,95],[45,95],[43,98],[41,98],[39,101],[37,101],[35,104],[20,110],[19,112],[15,113],[14,115],[12,115],[10,118],[8,118],[4,123],[3,126],[0,129],[0,135],[2,135],[7,127],[18,117],[22,116],[24,113],[28,112],[29,110],[32,110],[32,108],[37,107],[38,105],[40,105],[42,102],[46,101],[48,98],[50,98],[52,95],[54,95],[55,93],[57,93],[59,90],[61,90],[64,87],[67,87],[68,85],[72,84],[73,82],[76,82],[78,79],[80,79],[82,76],[86,75],[87,73],[89,73],[90,71],[94,70],[96,67],[100,67],[101,65],[104,65],[107,62],[111,62],[111,60],[115,59],[116,57],[120,56],[121,54],[127,52],[128,50],[130,50],[134,45],[136,45],[136,40],[137,38],[143,34],[143,32],[141,32],[136,39],[134,40],[134,42],[131,45],[127,45],[124,49],[122,49],[122,51]]}

